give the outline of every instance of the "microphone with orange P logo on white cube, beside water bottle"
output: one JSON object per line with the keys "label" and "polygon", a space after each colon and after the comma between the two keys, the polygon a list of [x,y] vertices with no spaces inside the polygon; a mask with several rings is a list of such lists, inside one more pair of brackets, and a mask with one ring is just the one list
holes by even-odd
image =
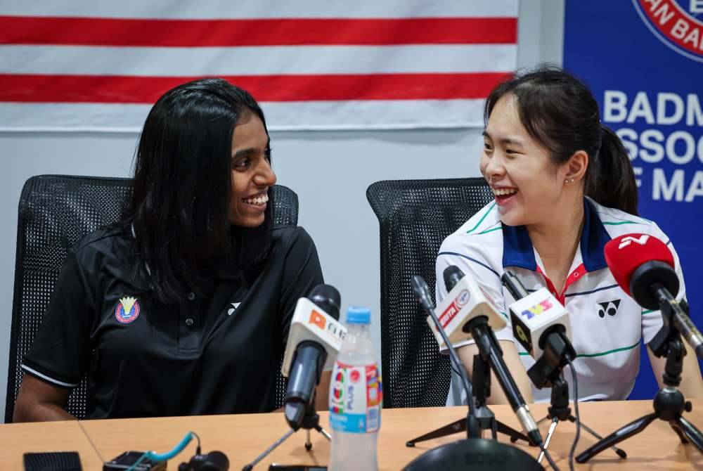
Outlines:
{"label": "microphone with orange P logo on white cube, beside water bottle", "polygon": [[323,370],[332,370],[342,347],[347,328],[337,321],[339,318],[340,292],[333,286],[317,285],[309,299],[298,299],[280,369],[288,377],[284,413],[293,430],[302,427],[320,376]]}

